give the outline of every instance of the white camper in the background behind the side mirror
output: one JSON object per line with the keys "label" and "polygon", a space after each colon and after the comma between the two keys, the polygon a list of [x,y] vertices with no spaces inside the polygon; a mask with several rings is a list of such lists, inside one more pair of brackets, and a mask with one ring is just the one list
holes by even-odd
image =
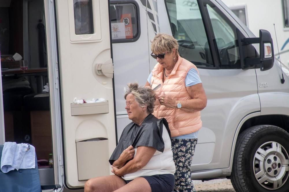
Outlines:
{"label": "white camper in the background behind the side mirror", "polygon": [[[248,0],[224,0],[231,10],[241,11],[242,17],[246,22],[247,27],[258,36],[259,29],[264,28],[269,31],[274,40],[274,54],[279,60],[277,41],[281,62],[289,66],[289,27],[286,27],[284,22],[286,17],[284,12],[288,1],[248,1]],[[273,15],[270,13],[274,12]],[[275,36],[274,24],[276,29],[277,41]]]}

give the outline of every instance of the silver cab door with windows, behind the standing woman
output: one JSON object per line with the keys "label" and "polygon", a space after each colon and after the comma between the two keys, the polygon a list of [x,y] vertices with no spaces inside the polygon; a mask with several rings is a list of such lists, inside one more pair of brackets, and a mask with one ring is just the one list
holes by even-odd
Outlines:
{"label": "silver cab door with windows, behind the standing woman", "polygon": [[241,69],[237,29],[248,35],[214,0],[165,2],[179,53],[197,66],[208,98],[192,170],[228,168],[238,123],[260,111],[255,69]]}

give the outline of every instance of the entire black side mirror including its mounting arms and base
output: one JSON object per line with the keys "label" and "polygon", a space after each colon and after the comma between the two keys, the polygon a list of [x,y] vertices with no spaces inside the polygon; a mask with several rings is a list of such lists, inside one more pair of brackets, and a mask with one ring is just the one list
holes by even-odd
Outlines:
{"label": "entire black side mirror including its mounting arms and base", "polygon": [[274,64],[273,40],[271,34],[260,29],[259,37],[242,38],[244,37],[240,31],[237,30],[239,45],[249,45],[253,43],[260,44],[260,58],[244,58],[244,53],[240,47],[241,67],[242,69],[249,69],[252,66],[260,65],[261,71],[271,69]]}

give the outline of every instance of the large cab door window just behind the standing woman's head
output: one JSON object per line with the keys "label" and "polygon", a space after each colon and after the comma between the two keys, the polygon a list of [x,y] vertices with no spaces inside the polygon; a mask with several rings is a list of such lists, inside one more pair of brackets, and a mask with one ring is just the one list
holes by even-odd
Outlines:
{"label": "large cab door window just behind the standing woman's head", "polygon": [[198,67],[214,67],[197,0],[166,0],[166,5],[180,56]]}

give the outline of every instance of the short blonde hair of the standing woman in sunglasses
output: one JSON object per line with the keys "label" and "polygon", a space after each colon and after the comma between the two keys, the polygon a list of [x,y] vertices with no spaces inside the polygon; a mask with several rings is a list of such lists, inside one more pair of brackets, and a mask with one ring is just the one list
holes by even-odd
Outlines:
{"label": "short blonde hair of the standing woman in sunglasses", "polygon": [[165,33],[158,33],[151,41],[151,51],[154,54],[170,52],[173,48],[176,49],[176,54],[178,54],[179,44],[177,40]]}

